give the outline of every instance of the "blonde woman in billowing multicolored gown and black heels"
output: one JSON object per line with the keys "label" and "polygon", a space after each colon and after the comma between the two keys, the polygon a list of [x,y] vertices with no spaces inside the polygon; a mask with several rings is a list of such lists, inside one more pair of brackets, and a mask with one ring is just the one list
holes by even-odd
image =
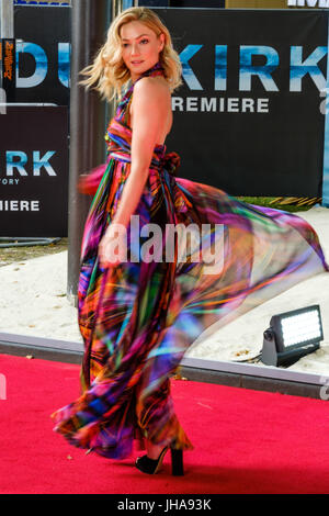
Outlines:
{"label": "blonde woman in billowing multicolored gown and black heels", "polygon": [[[183,474],[183,450],[193,446],[173,410],[170,375],[185,350],[214,323],[217,330],[328,266],[303,220],[175,176],[179,156],[166,154],[164,142],[181,64],[151,10],[120,14],[83,72],[83,85],[120,102],[105,135],[106,164],[80,183],[94,195],[78,291],[82,395],[54,414],[55,430],[116,459],[138,439],[147,452],[135,464],[149,474],[170,449],[172,473]],[[178,226],[193,228],[194,237],[200,229],[194,247],[171,238],[167,229]],[[141,244],[146,228],[156,238]],[[217,267],[209,267],[212,246]]]}

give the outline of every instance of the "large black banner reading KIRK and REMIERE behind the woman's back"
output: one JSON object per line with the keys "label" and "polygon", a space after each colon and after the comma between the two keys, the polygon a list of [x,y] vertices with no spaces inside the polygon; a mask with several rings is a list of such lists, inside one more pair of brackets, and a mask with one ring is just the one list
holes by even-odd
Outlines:
{"label": "large black banner reading KIRK and REMIERE behind the woman's back", "polygon": [[155,9],[183,65],[167,147],[234,195],[320,197],[328,13]]}

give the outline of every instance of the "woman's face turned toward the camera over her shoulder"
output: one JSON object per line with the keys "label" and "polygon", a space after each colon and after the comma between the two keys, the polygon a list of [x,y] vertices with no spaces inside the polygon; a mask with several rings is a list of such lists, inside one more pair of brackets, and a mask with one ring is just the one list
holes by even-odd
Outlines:
{"label": "woman's face turned toward the camera over her shoulder", "polygon": [[164,34],[157,34],[141,22],[125,23],[120,31],[122,57],[131,71],[132,80],[151,68],[159,60],[164,46]]}

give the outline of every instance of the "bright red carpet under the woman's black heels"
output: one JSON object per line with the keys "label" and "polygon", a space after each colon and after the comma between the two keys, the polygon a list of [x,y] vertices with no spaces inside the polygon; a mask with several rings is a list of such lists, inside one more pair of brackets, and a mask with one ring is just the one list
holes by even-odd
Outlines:
{"label": "bright red carpet under the woman's black heels", "polygon": [[[0,356],[1,494],[328,493],[329,405],[282,394],[172,381],[195,450],[185,476],[157,475],[68,445],[49,415],[79,394],[79,367]],[[138,452],[135,453],[137,456]]]}

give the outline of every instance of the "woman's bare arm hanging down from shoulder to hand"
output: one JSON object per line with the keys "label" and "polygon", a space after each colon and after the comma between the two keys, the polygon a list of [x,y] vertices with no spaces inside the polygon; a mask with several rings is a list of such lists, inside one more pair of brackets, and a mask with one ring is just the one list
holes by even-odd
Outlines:
{"label": "woman's bare arm hanging down from shoulder to hand", "polygon": [[127,227],[131,215],[135,212],[144,191],[149,166],[159,134],[163,134],[167,123],[168,91],[157,79],[147,77],[140,79],[134,88],[132,102],[133,139],[131,173],[123,189],[122,198],[112,223],[107,227],[99,246],[101,263],[115,265],[120,260],[109,261],[109,250],[113,239],[114,224]]}

